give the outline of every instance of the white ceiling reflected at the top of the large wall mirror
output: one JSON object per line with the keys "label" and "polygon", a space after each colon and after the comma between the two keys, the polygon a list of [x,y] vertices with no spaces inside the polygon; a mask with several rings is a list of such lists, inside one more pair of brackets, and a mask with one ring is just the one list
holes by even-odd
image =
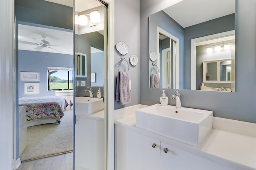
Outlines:
{"label": "white ceiling reflected at the top of the large wall mirror", "polygon": [[163,11],[185,28],[235,13],[235,0],[182,0]]}

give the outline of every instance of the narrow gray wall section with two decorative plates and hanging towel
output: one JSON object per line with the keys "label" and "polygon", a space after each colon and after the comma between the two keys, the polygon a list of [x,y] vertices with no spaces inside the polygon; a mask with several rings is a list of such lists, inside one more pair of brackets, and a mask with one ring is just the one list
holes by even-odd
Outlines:
{"label": "narrow gray wall section with two decorative plates and hanging towel", "polygon": [[[116,0],[115,1],[115,44],[119,41],[124,41],[128,47],[129,52],[126,55],[120,55],[118,51],[115,52],[115,84],[118,75],[117,63],[120,57],[125,57],[129,63],[130,80],[132,81],[131,103],[121,105],[120,102],[115,101],[115,109],[132,106],[140,103],[140,2],[138,0]],[[132,54],[137,55],[138,64],[132,66],[129,62]],[[148,64],[148,63],[147,63]],[[126,71],[128,66],[125,61],[119,64],[122,71]],[[148,66],[147,66],[148,68]],[[116,89],[116,86],[115,86]],[[114,99],[113,99],[114,100]]]}

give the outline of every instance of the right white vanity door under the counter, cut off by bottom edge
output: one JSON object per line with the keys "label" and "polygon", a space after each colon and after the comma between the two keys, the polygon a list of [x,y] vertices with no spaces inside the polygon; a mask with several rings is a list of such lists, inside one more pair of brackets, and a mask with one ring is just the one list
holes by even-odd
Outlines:
{"label": "right white vanity door under the counter, cut off by bottom edge", "polygon": [[[164,149],[168,149],[167,153]],[[161,170],[233,170],[182,149],[161,143]]]}

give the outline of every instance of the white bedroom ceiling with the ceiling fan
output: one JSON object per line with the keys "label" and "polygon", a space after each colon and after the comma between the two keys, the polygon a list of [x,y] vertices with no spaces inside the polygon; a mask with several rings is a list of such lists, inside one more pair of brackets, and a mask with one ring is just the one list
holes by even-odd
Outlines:
{"label": "white bedroom ceiling with the ceiling fan", "polygon": [[[43,44],[43,39],[50,43],[48,47],[42,47],[42,45],[39,45]],[[19,50],[73,54],[72,32],[19,24],[18,40]]]}

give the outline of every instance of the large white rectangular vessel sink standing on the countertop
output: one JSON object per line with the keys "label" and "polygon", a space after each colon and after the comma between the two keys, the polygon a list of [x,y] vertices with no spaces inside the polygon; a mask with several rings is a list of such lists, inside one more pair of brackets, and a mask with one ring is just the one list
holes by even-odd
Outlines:
{"label": "large white rectangular vessel sink standing on the countertop", "polygon": [[155,104],[135,111],[136,126],[193,146],[212,130],[213,111]]}

